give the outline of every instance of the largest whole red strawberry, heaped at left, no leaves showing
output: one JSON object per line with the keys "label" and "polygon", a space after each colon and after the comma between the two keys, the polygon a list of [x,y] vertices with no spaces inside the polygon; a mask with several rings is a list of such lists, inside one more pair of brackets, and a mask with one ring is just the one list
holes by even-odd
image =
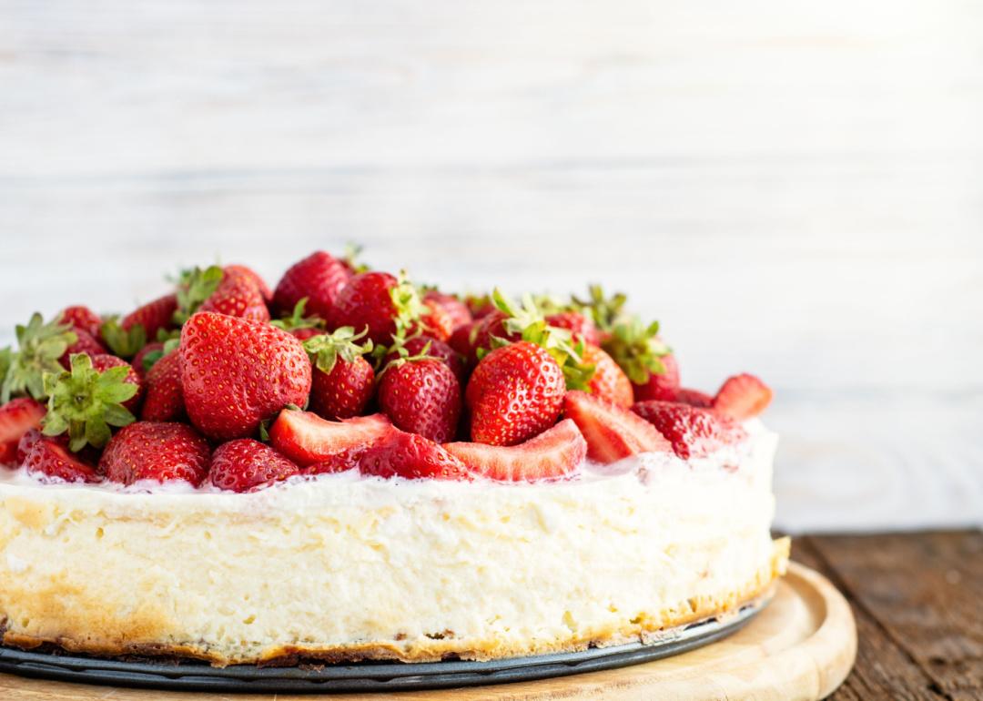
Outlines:
{"label": "largest whole red strawberry, heaped at left, no leaves showing", "polygon": [[311,391],[304,346],[269,323],[199,312],[181,331],[181,356],[185,409],[208,438],[249,437]]}

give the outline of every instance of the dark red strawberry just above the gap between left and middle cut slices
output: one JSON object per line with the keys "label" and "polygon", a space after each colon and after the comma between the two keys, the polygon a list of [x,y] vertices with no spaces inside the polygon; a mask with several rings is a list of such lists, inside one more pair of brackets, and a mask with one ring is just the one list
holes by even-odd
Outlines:
{"label": "dark red strawberry just above the gap between left and middle cut slices", "polygon": [[378,405],[396,428],[443,442],[457,433],[461,383],[439,360],[397,360],[379,379]]}

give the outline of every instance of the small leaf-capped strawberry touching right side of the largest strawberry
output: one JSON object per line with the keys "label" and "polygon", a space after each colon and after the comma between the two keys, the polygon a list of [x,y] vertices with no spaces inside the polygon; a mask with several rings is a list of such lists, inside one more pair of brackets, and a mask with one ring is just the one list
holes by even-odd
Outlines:
{"label": "small leaf-capped strawberry touching right side of the largest strawberry", "polygon": [[318,416],[350,419],[362,414],[372,399],[376,373],[362,356],[371,352],[373,345],[369,340],[360,343],[364,335],[355,333],[351,326],[342,326],[304,342],[314,366],[308,408]]}

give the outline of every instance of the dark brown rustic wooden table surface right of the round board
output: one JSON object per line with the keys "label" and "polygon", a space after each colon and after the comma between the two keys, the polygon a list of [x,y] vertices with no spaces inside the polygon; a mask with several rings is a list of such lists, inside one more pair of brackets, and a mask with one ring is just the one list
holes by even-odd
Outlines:
{"label": "dark brown rustic wooden table surface right of the round board", "polygon": [[793,543],[856,617],[856,665],[832,699],[983,699],[983,532]]}

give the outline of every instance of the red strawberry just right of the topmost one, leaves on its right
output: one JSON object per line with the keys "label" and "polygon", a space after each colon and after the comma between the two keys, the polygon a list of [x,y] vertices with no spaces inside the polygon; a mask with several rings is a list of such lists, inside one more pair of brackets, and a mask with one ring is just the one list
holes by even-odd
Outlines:
{"label": "red strawberry just right of the topmost one, leaves on its right", "polygon": [[388,344],[396,332],[398,310],[391,291],[398,280],[388,272],[363,272],[348,281],[334,300],[329,326],[369,329],[373,343]]}

